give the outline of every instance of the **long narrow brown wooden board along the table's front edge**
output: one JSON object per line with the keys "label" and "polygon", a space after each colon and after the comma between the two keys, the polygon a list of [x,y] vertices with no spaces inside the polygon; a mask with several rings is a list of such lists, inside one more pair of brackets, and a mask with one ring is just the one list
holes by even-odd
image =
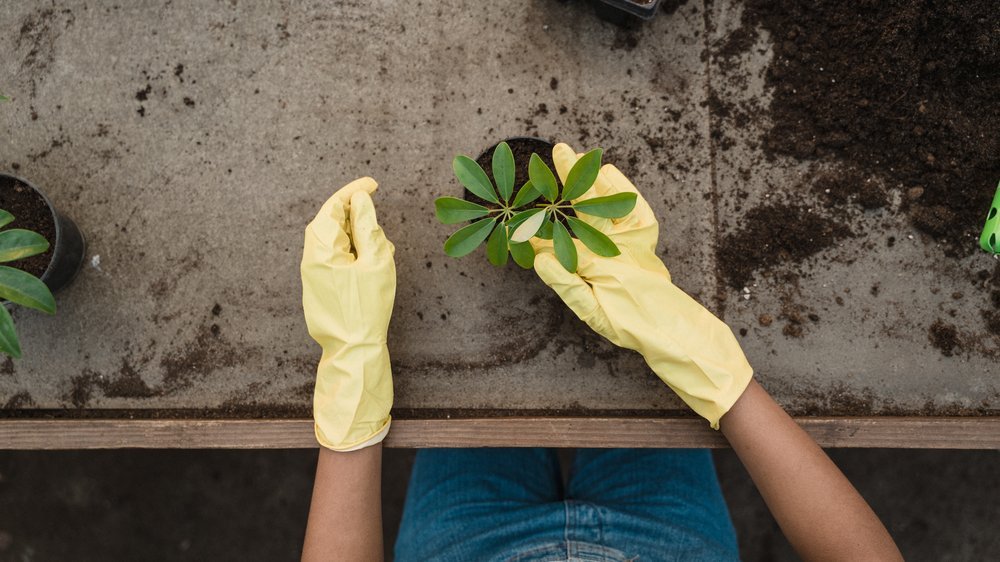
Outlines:
{"label": "long narrow brown wooden board along the table's front edge", "polygon": [[[823,447],[1000,449],[1000,417],[796,418]],[[389,447],[728,446],[698,419],[397,420]],[[0,449],[298,449],[312,420],[0,420]]]}

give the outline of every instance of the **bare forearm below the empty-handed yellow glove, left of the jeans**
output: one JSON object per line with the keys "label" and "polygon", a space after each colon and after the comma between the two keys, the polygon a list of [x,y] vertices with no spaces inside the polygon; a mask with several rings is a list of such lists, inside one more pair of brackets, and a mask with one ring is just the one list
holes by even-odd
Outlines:
{"label": "bare forearm below the empty-handed yellow glove, left of the jeans", "polygon": [[302,560],[382,560],[382,445],[320,448]]}

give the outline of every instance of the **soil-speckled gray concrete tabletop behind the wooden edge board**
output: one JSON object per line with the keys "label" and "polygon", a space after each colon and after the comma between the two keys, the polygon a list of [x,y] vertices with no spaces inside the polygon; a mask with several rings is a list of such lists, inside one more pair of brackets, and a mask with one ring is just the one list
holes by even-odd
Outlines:
{"label": "soil-speckled gray concrete tabletop behind the wooden edge board", "polygon": [[[766,101],[769,52],[765,37],[721,64],[740,7],[708,6],[622,29],[550,0],[3,3],[13,102],[0,108],[0,169],[77,220],[92,261],[57,317],[17,314],[26,358],[0,373],[0,405],[307,411],[317,349],[299,305],[302,229],[367,174],[397,247],[397,407],[680,407],[532,274],[443,255],[432,202],[460,191],[451,157],[528,133],[603,146],[632,175],[676,282],[747,330],[785,405],[995,410],[996,338],[951,358],[927,341],[942,312],[978,318],[986,295],[970,272],[995,262],[944,259],[894,209],[854,216],[870,235],[812,258],[797,287],[762,279],[749,299],[720,287],[715,247],[738,222],[738,190],[760,201],[805,170],[762,159],[752,127],[719,124],[739,141],[727,150],[712,140],[709,94]],[[790,291],[822,318],[802,338],[756,321]]]}

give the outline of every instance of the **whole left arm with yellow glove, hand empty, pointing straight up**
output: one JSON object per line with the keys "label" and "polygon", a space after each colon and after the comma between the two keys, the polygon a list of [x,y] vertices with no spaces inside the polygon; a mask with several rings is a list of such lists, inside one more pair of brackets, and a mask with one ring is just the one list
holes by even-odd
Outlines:
{"label": "whole left arm with yellow glove, hand empty, pointing straight up", "polygon": [[302,307],[322,348],[313,417],[321,445],[303,560],[381,560],[381,441],[392,373],[386,333],[396,289],[393,246],[361,178],[306,228]]}

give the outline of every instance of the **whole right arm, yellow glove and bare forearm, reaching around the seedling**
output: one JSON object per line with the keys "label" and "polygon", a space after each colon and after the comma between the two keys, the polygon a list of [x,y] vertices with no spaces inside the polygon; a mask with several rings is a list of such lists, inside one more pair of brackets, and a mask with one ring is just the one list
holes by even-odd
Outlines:
{"label": "whole right arm, yellow glove and bare forearm, reaching around the seedling", "polygon": [[[560,144],[552,157],[565,181],[578,155]],[[605,165],[585,197],[623,192],[637,195],[628,216],[581,217],[621,255],[596,256],[577,244],[579,267],[571,273],[551,243],[532,239],[538,276],[596,332],[642,354],[713,428],[721,424],[803,558],[898,560],[888,532],[850,482],[753,380],[729,327],[672,283],[656,255],[659,224],[635,186]]]}

